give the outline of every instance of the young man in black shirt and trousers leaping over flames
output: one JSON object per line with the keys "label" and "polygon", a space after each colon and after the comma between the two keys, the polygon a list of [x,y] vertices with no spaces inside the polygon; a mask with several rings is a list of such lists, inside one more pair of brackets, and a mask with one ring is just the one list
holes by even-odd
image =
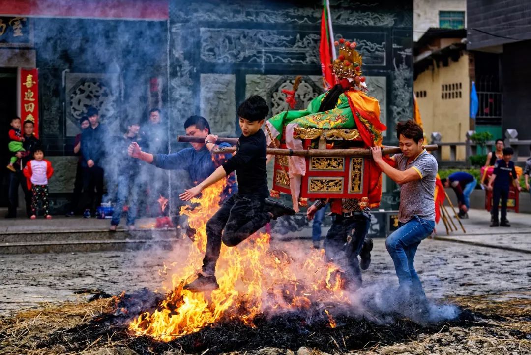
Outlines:
{"label": "young man in black shirt and trousers leaping over flames", "polygon": [[[185,290],[203,292],[219,288],[214,274],[221,242],[227,247],[237,246],[271,219],[295,214],[289,207],[266,200],[269,196],[265,170],[267,143],[260,128],[268,112],[269,108],[260,96],[253,95],[245,100],[238,107],[242,136],[238,140],[236,155],[203,182],[180,195],[183,201],[189,201],[203,189],[236,171],[238,193],[225,201],[207,222],[207,248],[203,267],[196,280],[184,285]],[[209,142],[215,143],[216,136],[209,134],[205,143]]]}

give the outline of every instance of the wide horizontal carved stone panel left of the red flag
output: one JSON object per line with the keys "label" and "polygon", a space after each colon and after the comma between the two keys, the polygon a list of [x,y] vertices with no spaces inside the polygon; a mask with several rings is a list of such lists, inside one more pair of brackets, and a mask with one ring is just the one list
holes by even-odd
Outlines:
{"label": "wide horizontal carved stone panel left of the red flag", "polygon": [[319,64],[316,33],[201,28],[201,59],[211,63]]}

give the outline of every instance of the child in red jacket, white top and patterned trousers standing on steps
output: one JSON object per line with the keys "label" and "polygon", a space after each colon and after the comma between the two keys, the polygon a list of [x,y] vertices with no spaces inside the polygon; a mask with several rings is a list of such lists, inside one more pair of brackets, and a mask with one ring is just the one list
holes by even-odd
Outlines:
{"label": "child in red jacket, white top and patterned trousers standing on steps", "polygon": [[37,204],[42,202],[42,209],[46,219],[52,219],[48,213],[48,179],[52,177],[54,169],[52,163],[44,158],[42,147],[35,147],[33,160],[24,167],[24,176],[27,178],[28,190],[31,190],[31,219],[37,218]]}

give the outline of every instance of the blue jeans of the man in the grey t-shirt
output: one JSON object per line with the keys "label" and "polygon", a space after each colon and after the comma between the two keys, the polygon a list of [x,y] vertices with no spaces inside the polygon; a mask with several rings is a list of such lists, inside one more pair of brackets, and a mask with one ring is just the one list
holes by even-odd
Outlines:
{"label": "blue jeans of the man in the grey t-shirt", "polygon": [[395,263],[400,288],[406,294],[413,293],[417,297],[426,297],[413,263],[418,244],[431,234],[434,226],[434,221],[414,215],[408,222],[400,222],[399,228],[386,240],[387,251]]}

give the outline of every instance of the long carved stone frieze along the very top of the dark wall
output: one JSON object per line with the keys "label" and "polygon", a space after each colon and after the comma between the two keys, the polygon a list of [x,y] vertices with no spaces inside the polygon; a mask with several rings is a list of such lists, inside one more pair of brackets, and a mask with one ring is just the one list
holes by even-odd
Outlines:
{"label": "long carved stone frieze along the very top of the dark wall", "polygon": [[[332,6],[330,11],[332,22],[349,26],[385,26],[397,25],[397,16],[392,11],[376,11],[380,7],[373,7],[375,11],[358,11],[363,4],[353,6],[352,3],[339,3]],[[332,4],[335,5],[335,4]],[[378,5],[378,4],[374,4]],[[198,11],[198,7],[200,7]],[[219,2],[205,1],[201,5],[197,3],[179,6],[179,11],[172,12],[173,19],[178,23],[189,23],[191,20],[198,22],[253,22],[253,23],[294,23],[294,24],[318,24],[321,22],[321,6],[296,7],[285,6],[272,9],[271,5],[263,2]],[[367,7],[367,6],[363,6]],[[177,10],[177,9],[176,9]]]}

